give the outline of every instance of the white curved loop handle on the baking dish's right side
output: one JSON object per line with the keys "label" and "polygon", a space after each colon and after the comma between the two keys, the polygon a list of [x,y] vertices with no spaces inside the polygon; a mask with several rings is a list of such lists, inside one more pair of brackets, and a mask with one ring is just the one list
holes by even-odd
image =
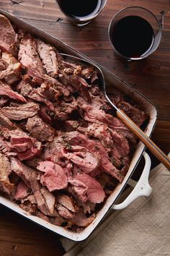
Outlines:
{"label": "white curved loop handle on the baking dish's right side", "polygon": [[131,187],[134,187],[133,191],[125,199],[125,201],[123,201],[119,205],[112,205],[113,210],[122,210],[126,208],[128,205],[130,205],[130,203],[133,202],[138,197],[149,197],[151,195],[152,188],[148,183],[148,176],[151,170],[151,158],[147,153],[143,153],[143,156],[145,158],[146,163],[139,181],[135,182],[133,179],[129,179],[128,184]]}

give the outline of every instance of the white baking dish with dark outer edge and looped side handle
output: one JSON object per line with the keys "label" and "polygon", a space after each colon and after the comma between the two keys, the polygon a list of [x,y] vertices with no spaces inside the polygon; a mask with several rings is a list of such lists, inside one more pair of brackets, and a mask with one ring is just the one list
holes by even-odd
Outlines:
{"label": "white baking dish with dark outer edge and looped side handle", "polygon": [[[27,31],[27,33],[30,33],[32,35],[35,35],[39,38],[42,38],[42,40],[45,40],[48,43],[51,43],[53,46],[58,48],[59,51],[71,54],[74,56],[78,56],[82,59],[89,60],[91,62],[95,63],[88,57],[84,56],[84,54],[81,54],[79,51],[74,50],[70,46],[66,45],[66,43],[61,42],[61,40],[58,40],[57,38],[54,38],[51,35],[48,35],[41,30],[38,30],[36,27],[33,27],[32,25],[27,24],[27,22],[24,22],[20,20],[17,17],[14,17],[12,14],[9,14],[8,12],[5,12],[0,9],[0,14],[4,14],[11,22],[16,24],[18,27],[24,29]],[[100,66],[99,66],[100,67]],[[110,92],[114,90],[114,88],[117,88],[118,90],[122,91],[122,93],[125,93],[126,95],[129,95],[131,98],[133,98],[138,103],[142,104],[143,108],[148,112],[150,116],[150,120],[148,121],[148,125],[146,127],[146,134],[148,136],[151,136],[151,133],[153,132],[153,129],[156,124],[157,119],[157,111],[155,106],[148,101],[143,95],[138,93],[136,90],[130,87],[127,83],[120,80],[118,77],[116,77],[111,72],[107,71],[107,69],[104,69],[104,67],[100,67],[102,69],[102,72],[104,73],[104,78],[107,83],[107,88]],[[11,210],[14,210],[16,213],[19,213],[21,216],[24,216],[25,218],[29,219],[30,221],[34,221],[35,223],[39,224],[40,226],[45,227],[46,229],[49,229],[50,231],[55,232],[56,234],[59,234],[61,236],[65,236],[68,239],[74,240],[74,241],[82,241],[86,239],[91,232],[97,227],[100,221],[102,221],[102,218],[107,214],[109,208],[114,208],[115,210],[120,210],[122,208],[125,208],[130,204],[130,202],[133,202],[137,197],[139,196],[149,196],[151,194],[151,187],[148,184],[148,174],[151,167],[151,160],[145,153],[146,158],[146,166],[144,168],[143,174],[140,177],[140,181],[135,186],[135,182],[130,180],[130,176],[133,174],[133,171],[135,171],[136,166],[138,165],[138,161],[140,160],[141,156],[143,155],[143,151],[145,150],[145,146],[142,142],[138,142],[138,145],[136,146],[135,153],[133,154],[133,158],[130,164],[130,168],[128,170],[128,173],[125,176],[125,179],[123,180],[122,184],[118,185],[114,192],[109,196],[107,201],[104,203],[104,206],[101,210],[99,210],[99,213],[97,213],[97,217],[94,219],[94,221],[84,229],[84,231],[81,231],[81,233],[75,233],[73,231],[67,231],[61,226],[55,226],[51,223],[48,223],[47,221],[42,220],[42,218],[39,218],[37,216],[31,216],[19,206],[6,199],[5,197],[0,196],[0,203],[1,205],[6,206],[7,208],[10,208]],[[122,190],[125,188],[125,185],[127,183],[130,183],[135,186],[135,189],[133,189],[133,192],[130,194],[130,196],[125,200],[125,202],[122,202],[120,205],[113,205],[115,200],[120,196]]]}

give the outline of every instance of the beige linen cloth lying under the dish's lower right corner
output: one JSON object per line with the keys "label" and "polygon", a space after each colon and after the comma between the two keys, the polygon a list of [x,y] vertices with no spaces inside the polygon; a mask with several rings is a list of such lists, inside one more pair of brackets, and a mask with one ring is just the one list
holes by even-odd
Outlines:
{"label": "beige linen cloth lying under the dish's lower right corner", "polygon": [[84,242],[61,239],[65,256],[170,255],[170,171],[158,165],[150,184],[150,197],[114,211]]}

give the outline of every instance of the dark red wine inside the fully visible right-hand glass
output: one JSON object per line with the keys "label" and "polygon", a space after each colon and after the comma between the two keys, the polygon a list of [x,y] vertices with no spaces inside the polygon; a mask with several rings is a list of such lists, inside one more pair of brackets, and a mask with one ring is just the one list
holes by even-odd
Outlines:
{"label": "dark red wine inside the fully visible right-hand glass", "polygon": [[153,28],[143,17],[123,17],[112,28],[115,50],[127,58],[140,58],[151,50],[154,43]]}

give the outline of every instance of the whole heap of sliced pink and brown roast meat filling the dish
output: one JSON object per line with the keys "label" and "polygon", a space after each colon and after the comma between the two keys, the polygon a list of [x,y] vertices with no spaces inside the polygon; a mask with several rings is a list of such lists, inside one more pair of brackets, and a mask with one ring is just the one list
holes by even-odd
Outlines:
{"label": "whole heap of sliced pink and brown roast meat filling the dish", "polygon": [[[82,231],[124,179],[135,135],[93,67],[65,61],[0,19],[0,191],[30,214]],[[148,118],[117,90],[110,97],[138,126]]]}

